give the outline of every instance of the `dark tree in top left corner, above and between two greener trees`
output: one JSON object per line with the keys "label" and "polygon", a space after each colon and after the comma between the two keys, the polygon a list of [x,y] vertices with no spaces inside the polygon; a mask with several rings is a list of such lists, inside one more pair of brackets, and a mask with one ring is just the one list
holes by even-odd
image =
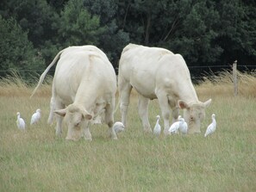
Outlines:
{"label": "dark tree in top left corner, above and between two greener trees", "polygon": [[22,29],[28,31],[28,40],[36,48],[57,35],[59,16],[46,0],[10,0],[3,5],[2,15],[15,18]]}

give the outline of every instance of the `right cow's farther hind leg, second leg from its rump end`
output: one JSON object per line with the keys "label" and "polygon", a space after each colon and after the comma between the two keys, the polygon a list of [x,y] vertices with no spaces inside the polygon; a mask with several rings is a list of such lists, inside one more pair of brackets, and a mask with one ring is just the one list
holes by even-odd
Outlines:
{"label": "right cow's farther hind leg, second leg from its rump end", "polygon": [[138,109],[139,109],[140,120],[142,121],[144,131],[151,133],[152,129],[150,127],[148,116],[147,116],[148,102],[149,102],[148,98],[139,95]]}

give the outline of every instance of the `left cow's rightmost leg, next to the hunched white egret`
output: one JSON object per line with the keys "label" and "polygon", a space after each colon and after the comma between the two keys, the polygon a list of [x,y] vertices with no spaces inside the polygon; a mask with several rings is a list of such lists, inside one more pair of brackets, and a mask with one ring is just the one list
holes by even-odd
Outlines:
{"label": "left cow's rightmost leg, next to the hunched white egret", "polygon": [[114,130],[114,103],[115,100],[112,100],[112,103],[108,104],[106,106],[106,111],[105,111],[105,122],[109,126],[109,136],[112,139],[117,139],[116,132]]}

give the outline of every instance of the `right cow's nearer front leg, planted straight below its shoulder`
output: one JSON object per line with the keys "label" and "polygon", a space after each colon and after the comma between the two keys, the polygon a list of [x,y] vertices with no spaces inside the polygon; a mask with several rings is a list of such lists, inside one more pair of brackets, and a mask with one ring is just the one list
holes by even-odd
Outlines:
{"label": "right cow's nearer front leg, planted straight below its shoulder", "polygon": [[159,100],[159,107],[161,109],[162,112],[162,118],[164,120],[164,124],[165,124],[165,129],[164,129],[164,133],[169,134],[168,130],[170,128],[170,107],[169,107],[169,103],[168,103],[168,97],[165,93],[160,93],[157,92],[157,97]]}

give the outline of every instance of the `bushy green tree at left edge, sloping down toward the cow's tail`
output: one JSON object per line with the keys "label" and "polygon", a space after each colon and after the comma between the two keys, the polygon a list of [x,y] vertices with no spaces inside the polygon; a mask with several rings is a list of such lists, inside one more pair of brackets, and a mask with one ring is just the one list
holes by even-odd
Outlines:
{"label": "bushy green tree at left edge, sloping down toward the cow's tail", "polygon": [[21,77],[29,79],[41,72],[44,60],[36,53],[28,34],[16,23],[16,20],[3,19],[0,15],[0,77],[5,77],[10,71],[18,71]]}

